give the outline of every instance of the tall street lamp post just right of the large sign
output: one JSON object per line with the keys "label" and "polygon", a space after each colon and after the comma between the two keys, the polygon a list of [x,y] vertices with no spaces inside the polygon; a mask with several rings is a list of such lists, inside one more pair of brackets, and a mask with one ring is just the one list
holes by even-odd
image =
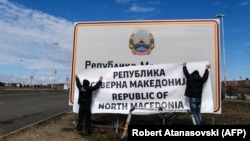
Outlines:
{"label": "tall street lamp post just right of the large sign", "polygon": [[225,15],[223,14],[217,14],[216,17],[221,19],[221,27],[222,27],[222,49],[223,49],[223,63],[224,63],[224,93],[227,93],[227,87],[226,87],[226,49],[225,49],[225,40],[224,40],[224,23],[223,23],[223,19],[225,17]]}

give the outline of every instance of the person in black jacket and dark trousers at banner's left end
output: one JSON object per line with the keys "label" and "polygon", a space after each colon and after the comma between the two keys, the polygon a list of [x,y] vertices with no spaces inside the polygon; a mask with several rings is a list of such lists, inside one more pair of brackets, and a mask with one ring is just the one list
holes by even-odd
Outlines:
{"label": "person in black jacket and dark trousers at banner's left end", "polygon": [[77,122],[77,130],[80,135],[83,134],[83,120],[84,127],[87,134],[91,134],[91,102],[92,102],[92,93],[93,91],[100,88],[102,84],[103,77],[99,77],[99,81],[96,82],[94,86],[90,86],[90,82],[87,79],[83,80],[83,84],[81,84],[80,79],[76,75],[76,85],[79,90],[78,104],[78,122]]}

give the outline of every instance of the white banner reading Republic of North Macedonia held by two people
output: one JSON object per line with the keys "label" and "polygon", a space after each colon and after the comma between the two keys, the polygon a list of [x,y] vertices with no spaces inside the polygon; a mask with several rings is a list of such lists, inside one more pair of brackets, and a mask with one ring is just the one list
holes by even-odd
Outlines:
{"label": "white banner reading Republic of North Macedonia held by two people", "polygon": [[[198,70],[203,75],[208,62],[188,62],[189,72]],[[130,66],[106,69],[82,69],[76,73],[81,82],[92,84],[103,76],[103,84],[93,93],[92,113],[156,114],[160,112],[186,112],[188,98],[184,96],[186,78],[182,63]],[[75,85],[73,111],[78,113],[78,89]],[[210,75],[204,84],[201,113],[213,113],[213,94]]]}

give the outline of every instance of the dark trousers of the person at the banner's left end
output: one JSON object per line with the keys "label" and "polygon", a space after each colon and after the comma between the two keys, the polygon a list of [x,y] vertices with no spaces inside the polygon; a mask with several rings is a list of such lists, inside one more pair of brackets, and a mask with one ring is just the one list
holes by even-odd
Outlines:
{"label": "dark trousers of the person at the banner's left end", "polygon": [[83,121],[84,121],[84,130],[87,133],[91,133],[91,111],[90,111],[90,107],[80,105],[79,111],[78,111],[78,122],[77,122],[77,130],[79,132],[83,131]]}

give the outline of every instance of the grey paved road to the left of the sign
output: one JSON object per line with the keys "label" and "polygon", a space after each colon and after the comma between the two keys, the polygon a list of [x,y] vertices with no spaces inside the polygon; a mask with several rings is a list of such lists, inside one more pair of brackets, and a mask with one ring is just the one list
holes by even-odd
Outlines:
{"label": "grey paved road to the left of the sign", "polygon": [[0,136],[69,111],[68,91],[20,91],[0,94]]}

